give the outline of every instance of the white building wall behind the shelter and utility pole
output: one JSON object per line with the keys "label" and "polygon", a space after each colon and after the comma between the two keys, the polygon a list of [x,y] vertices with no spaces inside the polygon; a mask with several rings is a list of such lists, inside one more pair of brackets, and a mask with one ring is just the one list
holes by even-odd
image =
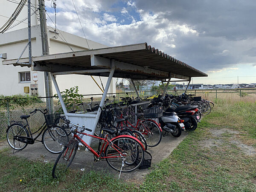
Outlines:
{"label": "white building wall behind the shelter and utility pole", "polygon": [[[62,32],[69,45],[61,40],[60,37],[57,39],[54,38],[55,33],[50,32],[52,29],[48,29],[48,38],[49,38],[49,52],[50,54],[61,53],[61,52],[71,52],[70,47],[74,51],[86,50],[88,49],[87,42],[84,38],[81,38],[76,35],[72,35],[67,32]],[[23,48],[27,44],[27,29],[19,29],[12,32],[6,32],[0,34],[0,53],[7,53],[7,59],[14,59],[20,56]],[[63,38],[63,37],[62,37]],[[96,43],[94,41],[88,40],[90,49],[107,47],[105,45]],[[41,32],[40,26],[32,27],[32,56],[41,55]],[[26,50],[22,58],[28,57],[28,51]],[[2,61],[3,59],[0,59]],[[19,67],[12,65],[0,65],[0,94],[2,95],[14,95],[14,94],[24,94],[23,89],[25,86],[30,87],[30,83],[19,83],[18,72],[31,71],[29,67]],[[32,76],[31,72],[31,76]],[[94,77],[96,81],[100,84],[99,77]],[[96,94],[102,93],[99,87],[91,79],[90,76],[83,75],[62,75],[57,76],[57,81],[59,84],[60,90],[69,89],[70,87],[79,86],[79,92],[81,94]],[[102,82],[105,85],[107,82],[106,77],[102,77]],[[31,78],[31,83],[35,83]],[[39,96],[45,96],[44,88],[44,72],[38,72],[38,94]],[[53,87],[53,93],[56,93],[55,87]],[[116,92],[115,79],[113,79],[109,93]]]}

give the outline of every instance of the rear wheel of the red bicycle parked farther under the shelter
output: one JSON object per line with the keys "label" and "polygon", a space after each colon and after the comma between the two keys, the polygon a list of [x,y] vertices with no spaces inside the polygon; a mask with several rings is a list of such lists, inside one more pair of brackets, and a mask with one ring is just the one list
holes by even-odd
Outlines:
{"label": "rear wheel of the red bicycle parked farther under the shelter", "polygon": [[149,147],[155,147],[161,142],[162,131],[160,126],[151,119],[144,119],[138,128],[138,131],[140,131],[145,137]]}

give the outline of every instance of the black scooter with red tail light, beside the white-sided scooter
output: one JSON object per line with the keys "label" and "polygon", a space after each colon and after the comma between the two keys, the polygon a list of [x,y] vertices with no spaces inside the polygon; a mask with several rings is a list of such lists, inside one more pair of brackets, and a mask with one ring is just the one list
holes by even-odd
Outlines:
{"label": "black scooter with red tail light, beside the white-sided scooter", "polygon": [[177,108],[168,108],[166,112],[175,112],[180,119],[183,119],[186,131],[195,131],[197,123],[201,122],[201,114],[197,105],[182,105]]}

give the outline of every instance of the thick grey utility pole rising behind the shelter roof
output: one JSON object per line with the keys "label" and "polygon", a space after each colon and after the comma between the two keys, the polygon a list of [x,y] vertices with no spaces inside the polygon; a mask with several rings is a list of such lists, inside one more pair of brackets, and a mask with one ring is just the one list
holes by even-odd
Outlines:
{"label": "thick grey utility pole rising behind the shelter roof", "polygon": [[[47,23],[46,23],[46,11],[44,0],[38,0],[39,6],[39,15],[40,15],[40,26],[41,26],[41,40],[42,40],[42,55],[49,55],[49,44],[48,44],[48,35],[47,35]],[[52,78],[49,72],[44,72],[44,85],[45,85],[45,96],[46,106],[49,111],[49,114],[53,113],[52,109]]]}

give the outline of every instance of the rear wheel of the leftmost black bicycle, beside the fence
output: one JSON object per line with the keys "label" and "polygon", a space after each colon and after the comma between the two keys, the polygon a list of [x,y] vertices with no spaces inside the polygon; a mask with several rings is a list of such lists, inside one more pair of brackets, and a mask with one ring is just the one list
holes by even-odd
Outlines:
{"label": "rear wheel of the leftmost black bicycle, beside the fence", "polygon": [[29,137],[29,132],[26,127],[19,123],[14,123],[9,126],[6,130],[6,139],[8,144],[15,150],[20,151],[28,145],[27,143],[22,143],[18,140],[14,140],[15,136]]}

